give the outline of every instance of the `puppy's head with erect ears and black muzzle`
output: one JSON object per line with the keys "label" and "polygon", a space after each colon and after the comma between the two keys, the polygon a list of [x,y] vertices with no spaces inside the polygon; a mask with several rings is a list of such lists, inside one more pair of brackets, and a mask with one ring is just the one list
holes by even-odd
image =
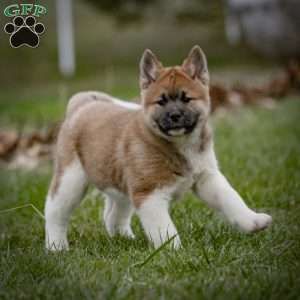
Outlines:
{"label": "puppy's head with erect ears and black muzzle", "polygon": [[192,133],[210,111],[206,57],[199,46],[181,66],[164,68],[150,51],[140,62],[140,87],[145,122],[167,139]]}

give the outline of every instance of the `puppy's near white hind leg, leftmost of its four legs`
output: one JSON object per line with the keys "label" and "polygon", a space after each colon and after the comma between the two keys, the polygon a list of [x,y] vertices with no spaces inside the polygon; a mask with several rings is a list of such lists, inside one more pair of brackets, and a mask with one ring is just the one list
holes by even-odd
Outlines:
{"label": "puppy's near white hind leg, leftmost of its four legs", "polygon": [[73,209],[79,205],[87,183],[78,159],[60,177],[58,189],[48,194],[45,206],[46,248],[51,251],[68,249],[67,226]]}

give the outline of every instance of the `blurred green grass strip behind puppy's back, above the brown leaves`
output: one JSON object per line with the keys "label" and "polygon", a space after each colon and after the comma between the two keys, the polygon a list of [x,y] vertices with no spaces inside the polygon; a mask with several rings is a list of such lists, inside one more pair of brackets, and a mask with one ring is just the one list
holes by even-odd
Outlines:
{"label": "blurred green grass strip behind puppy's back, above the brown leaves", "polygon": [[[125,79],[124,79],[125,77]],[[101,90],[123,99],[139,95],[137,72],[120,69],[85,80],[43,83],[34,89],[18,87],[0,94],[0,127],[47,126],[62,120],[69,98],[79,91]]]}

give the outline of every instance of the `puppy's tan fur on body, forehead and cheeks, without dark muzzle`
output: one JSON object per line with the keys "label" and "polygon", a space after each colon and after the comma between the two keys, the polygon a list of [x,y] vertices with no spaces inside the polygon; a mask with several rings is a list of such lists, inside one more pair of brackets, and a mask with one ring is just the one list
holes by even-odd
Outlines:
{"label": "puppy's tan fur on body, forehead and cheeks, without dark muzzle", "polygon": [[[161,93],[176,89],[195,99],[188,104],[192,109],[203,104],[209,107],[208,86],[191,78],[183,67],[161,67],[155,82],[142,90],[143,108],[139,110],[122,108],[94,92],[73,97],[58,137],[51,193],[57,191],[62,170],[75,157],[100,190],[115,188],[128,194],[136,207],[158,187],[185,176],[189,166],[176,139],[159,136],[149,124],[159,109],[155,100]],[[104,101],[96,101],[99,99]],[[198,151],[210,140],[206,122],[202,127]]]}

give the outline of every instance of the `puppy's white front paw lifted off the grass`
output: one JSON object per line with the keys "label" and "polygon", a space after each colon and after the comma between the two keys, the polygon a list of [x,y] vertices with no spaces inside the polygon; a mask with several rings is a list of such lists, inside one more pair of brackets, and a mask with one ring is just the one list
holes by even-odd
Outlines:
{"label": "puppy's white front paw lifted off the grass", "polygon": [[272,223],[272,217],[263,213],[252,213],[237,222],[242,231],[253,233],[267,228]]}

